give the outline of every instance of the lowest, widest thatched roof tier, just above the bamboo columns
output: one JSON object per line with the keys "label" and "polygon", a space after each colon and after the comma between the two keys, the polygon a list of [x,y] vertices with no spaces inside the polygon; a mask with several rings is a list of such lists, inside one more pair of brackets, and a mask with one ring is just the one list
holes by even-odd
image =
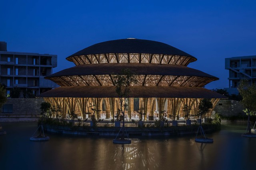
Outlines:
{"label": "lowest, widest thatched roof tier, just above the bamboo columns", "polygon": [[[40,94],[38,97],[117,98],[115,86],[67,86]],[[133,98],[227,98],[199,87],[131,86],[128,97]]]}

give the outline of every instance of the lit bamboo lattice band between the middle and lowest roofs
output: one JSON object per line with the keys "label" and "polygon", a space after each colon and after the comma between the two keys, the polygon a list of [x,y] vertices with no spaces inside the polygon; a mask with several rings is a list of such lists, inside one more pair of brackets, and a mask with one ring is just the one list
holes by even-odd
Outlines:
{"label": "lit bamboo lattice band between the middle and lowest roofs", "polygon": [[[60,86],[114,86],[114,76],[116,75],[58,76],[48,79]],[[215,79],[198,76],[136,75],[136,80],[132,86],[203,87]]]}

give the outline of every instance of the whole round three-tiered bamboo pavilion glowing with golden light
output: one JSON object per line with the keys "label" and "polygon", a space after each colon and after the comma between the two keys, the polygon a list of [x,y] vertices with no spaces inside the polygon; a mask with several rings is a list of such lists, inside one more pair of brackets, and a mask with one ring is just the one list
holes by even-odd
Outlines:
{"label": "whole round three-tiered bamboo pavilion glowing with golden light", "polygon": [[[136,110],[143,107],[144,119],[153,120],[161,111],[168,118],[196,115],[202,98],[210,98],[213,106],[221,94],[203,88],[217,77],[187,65],[197,59],[165,43],[144,39],[118,39],[97,43],[66,58],[76,66],[46,76],[60,87],[44,92],[43,97],[59,114],[78,114],[82,118],[97,110],[96,119],[113,119],[120,107],[114,77],[123,68],[136,76],[130,86],[126,119],[137,118]],[[212,108],[213,110],[213,108]],[[209,112],[210,115],[212,111]]]}

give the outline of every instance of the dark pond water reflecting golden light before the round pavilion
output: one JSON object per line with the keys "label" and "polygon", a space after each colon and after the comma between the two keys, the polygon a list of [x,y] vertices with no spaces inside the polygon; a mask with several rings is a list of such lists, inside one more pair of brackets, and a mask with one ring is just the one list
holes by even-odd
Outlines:
{"label": "dark pond water reflecting golden light before the round pavilion", "polygon": [[236,170],[254,167],[256,139],[243,138],[246,125],[223,125],[207,134],[214,143],[194,142],[194,135],[137,138],[129,145],[113,137],[75,137],[48,134],[50,141],[32,142],[36,123],[1,123],[0,170]]}

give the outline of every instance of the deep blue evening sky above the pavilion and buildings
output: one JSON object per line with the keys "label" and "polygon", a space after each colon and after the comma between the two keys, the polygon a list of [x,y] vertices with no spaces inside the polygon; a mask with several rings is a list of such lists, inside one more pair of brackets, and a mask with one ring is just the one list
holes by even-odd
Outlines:
{"label": "deep blue evening sky above the pavilion and buildings", "polygon": [[95,43],[138,38],[172,45],[189,64],[228,87],[224,59],[256,55],[256,0],[1,0],[0,41],[8,51],[66,57]]}

